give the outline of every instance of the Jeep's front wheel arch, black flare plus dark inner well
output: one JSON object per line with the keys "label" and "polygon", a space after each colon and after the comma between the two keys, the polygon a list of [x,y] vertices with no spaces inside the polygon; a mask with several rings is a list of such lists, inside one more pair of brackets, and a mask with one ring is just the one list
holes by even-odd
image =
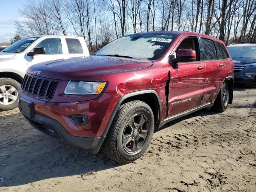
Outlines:
{"label": "Jeep's front wheel arch, black flare plus dark inner well", "polygon": [[102,136],[106,136],[108,133],[108,130],[114,120],[114,117],[116,113],[118,112],[118,108],[127,102],[130,102],[132,100],[140,100],[145,102],[150,106],[150,108],[153,111],[154,114],[154,120],[155,120],[155,127],[160,123],[161,120],[161,114],[162,114],[162,108],[161,108],[161,103],[159,96],[155,90],[141,90],[141,91],[136,91],[136,92],[131,92],[128,94],[125,94],[120,98],[118,103],[116,104],[114,111],[112,112],[112,115],[110,117],[110,120],[108,121],[108,124],[102,134]]}

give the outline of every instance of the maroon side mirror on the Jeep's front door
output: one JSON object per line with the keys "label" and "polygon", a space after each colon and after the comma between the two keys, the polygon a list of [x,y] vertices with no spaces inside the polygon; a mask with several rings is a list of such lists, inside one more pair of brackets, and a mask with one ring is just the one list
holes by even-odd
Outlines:
{"label": "maroon side mirror on the Jeep's front door", "polygon": [[196,60],[196,52],[192,49],[179,49],[177,58],[170,58],[171,63],[193,62]]}

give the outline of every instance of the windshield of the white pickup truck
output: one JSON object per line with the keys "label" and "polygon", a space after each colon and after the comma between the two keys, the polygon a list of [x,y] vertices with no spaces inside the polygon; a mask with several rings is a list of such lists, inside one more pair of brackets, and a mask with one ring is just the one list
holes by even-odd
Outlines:
{"label": "windshield of the white pickup truck", "polygon": [[33,38],[24,38],[22,40],[17,41],[16,43],[12,44],[11,46],[7,47],[3,52],[7,53],[20,53],[24,49],[26,49],[32,42],[37,40],[38,38],[33,37]]}

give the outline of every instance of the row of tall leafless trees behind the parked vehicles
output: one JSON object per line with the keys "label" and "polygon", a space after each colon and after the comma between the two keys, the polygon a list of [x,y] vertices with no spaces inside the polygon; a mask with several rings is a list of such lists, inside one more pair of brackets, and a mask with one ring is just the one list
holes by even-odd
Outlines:
{"label": "row of tall leafless trees behind the parked vehicles", "polygon": [[192,30],[230,42],[256,40],[255,0],[47,0],[30,1],[16,21],[22,36],[82,36],[97,48],[125,34]]}

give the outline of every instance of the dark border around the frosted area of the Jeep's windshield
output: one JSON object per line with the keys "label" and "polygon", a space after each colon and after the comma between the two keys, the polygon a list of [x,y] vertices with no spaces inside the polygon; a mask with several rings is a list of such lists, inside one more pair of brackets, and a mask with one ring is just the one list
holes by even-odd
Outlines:
{"label": "dark border around the frosted area of the Jeep's windshield", "polygon": [[[97,54],[98,52],[100,52],[100,50],[102,48],[105,48],[106,46],[108,46],[109,44],[111,44],[112,42],[115,42],[116,40],[119,40],[120,38],[125,38],[125,37],[130,37],[130,36],[147,36],[147,35],[151,35],[151,36],[172,36],[171,38],[171,42],[169,43],[168,46],[166,46],[165,50],[163,52],[160,52],[158,54],[157,57],[154,56],[152,58],[134,58],[132,56],[128,56],[128,55],[123,55],[123,54],[113,54],[113,55],[109,55],[109,54]],[[169,48],[172,46],[174,40],[176,40],[178,34],[173,34],[173,33],[158,33],[158,32],[155,32],[155,33],[135,33],[135,34],[130,34],[130,35],[126,35],[126,36],[122,36],[122,37],[119,37],[119,38],[116,38],[115,40],[109,42],[108,44],[106,44],[105,46],[103,46],[102,48],[100,48],[99,50],[96,50],[92,56],[113,56],[113,57],[121,57],[121,58],[132,58],[132,59],[136,59],[136,60],[150,60],[150,61],[156,61],[156,60],[160,60],[165,54],[166,52],[168,52]],[[160,37],[155,37],[155,38],[160,38]]]}

